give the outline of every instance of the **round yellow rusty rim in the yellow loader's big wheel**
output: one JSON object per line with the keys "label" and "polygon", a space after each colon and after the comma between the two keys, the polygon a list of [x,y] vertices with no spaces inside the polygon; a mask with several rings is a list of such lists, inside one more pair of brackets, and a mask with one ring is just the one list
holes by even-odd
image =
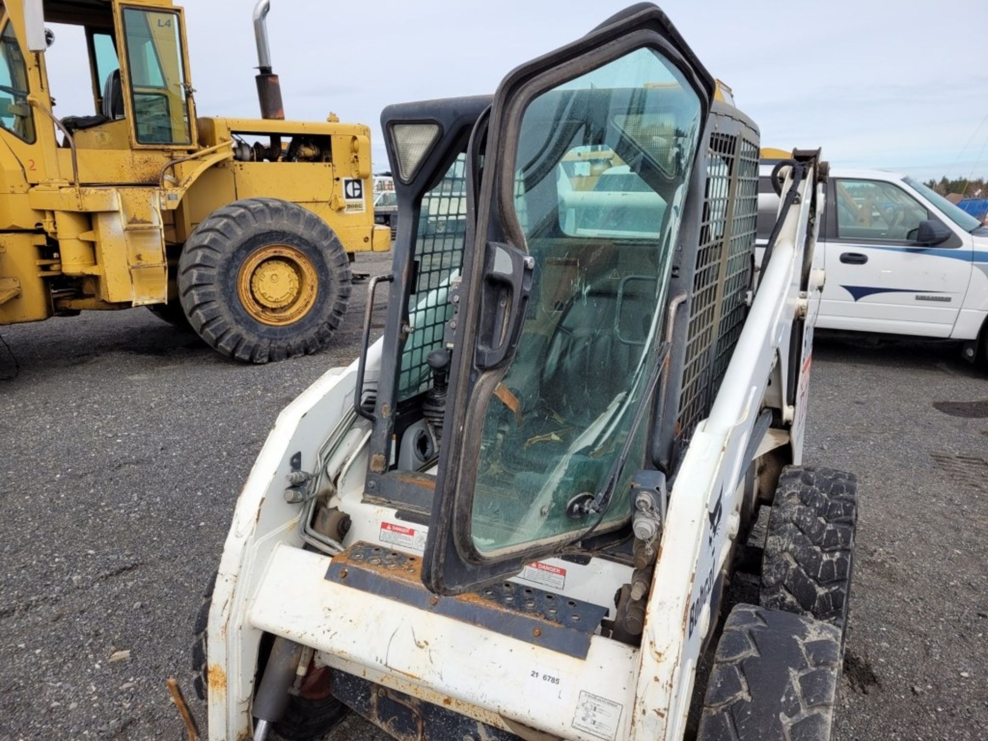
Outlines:
{"label": "round yellow rusty rim in the yellow loader's big wheel", "polygon": [[318,292],[312,262],[286,244],[269,244],[250,255],[237,277],[237,295],[247,313],[275,327],[305,316]]}

